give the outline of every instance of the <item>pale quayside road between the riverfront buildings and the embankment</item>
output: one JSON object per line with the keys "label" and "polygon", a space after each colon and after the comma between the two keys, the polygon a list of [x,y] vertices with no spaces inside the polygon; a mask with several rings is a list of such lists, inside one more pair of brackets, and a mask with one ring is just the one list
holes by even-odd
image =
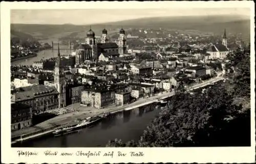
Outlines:
{"label": "pale quayside road between the riverfront buildings and the embankment", "polygon": [[[210,83],[215,83],[218,80],[223,79],[223,77],[221,77],[222,73],[217,74],[217,77],[209,79],[207,81],[203,81],[203,83],[194,85],[192,87],[189,87],[189,90],[193,90],[196,88],[200,88],[200,87],[204,87],[209,85]],[[149,98],[145,98],[145,99],[139,99],[133,103],[130,104],[126,104],[123,106],[109,106],[106,108],[102,108],[102,109],[98,109],[98,108],[94,108],[94,107],[88,107],[88,106],[82,106],[80,105],[80,103],[76,103],[73,105],[70,105],[69,107],[72,107],[74,110],[76,110],[75,112],[71,112],[68,114],[63,114],[63,115],[58,115],[52,119],[49,119],[47,121],[44,121],[42,123],[37,124],[36,126],[33,127],[29,127],[26,129],[22,129],[22,130],[17,130],[17,131],[13,131],[12,132],[12,137],[14,136],[19,136],[22,134],[27,134],[27,133],[32,133],[35,132],[37,130],[41,130],[41,129],[48,129],[51,127],[57,127],[57,126],[63,126],[63,125],[67,125],[67,124],[72,124],[74,123],[74,121],[76,119],[84,119],[84,118],[88,118],[94,115],[101,115],[103,113],[106,112],[117,112],[120,110],[131,110],[132,108],[136,108],[139,106],[143,106],[146,104],[150,104],[153,103],[156,99],[163,99],[163,98],[167,98],[170,96],[173,96],[175,93],[174,91],[172,92],[166,92],[166,93],[160,93],[159,95],[153,96],[153,97],[149,97]],[[78,111],[77,111],[78,110]]]}

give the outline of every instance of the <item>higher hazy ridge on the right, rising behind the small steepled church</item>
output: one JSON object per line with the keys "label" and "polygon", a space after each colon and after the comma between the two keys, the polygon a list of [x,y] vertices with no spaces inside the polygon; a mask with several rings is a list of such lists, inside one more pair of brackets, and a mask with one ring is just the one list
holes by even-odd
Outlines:
{"label": "higher hazy ridge on the right, rising behind the small steepled church", "polygon": [[222,34],[225,28],[229,33],[247,33],[250,29],[249,17],[240,15],[151,17],[106,24],[121,24],[124,28],[197,30],[216,34]]}

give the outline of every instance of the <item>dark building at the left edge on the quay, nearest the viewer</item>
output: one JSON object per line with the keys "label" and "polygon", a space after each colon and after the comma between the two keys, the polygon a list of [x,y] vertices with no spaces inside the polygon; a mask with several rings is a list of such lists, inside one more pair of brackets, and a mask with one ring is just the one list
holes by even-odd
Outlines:
{"label": "dark building at the left edge on the quay, nearest the viewer", "polygon": [[11,104],[11,130],[32,126],[32,107],[22,103]]}

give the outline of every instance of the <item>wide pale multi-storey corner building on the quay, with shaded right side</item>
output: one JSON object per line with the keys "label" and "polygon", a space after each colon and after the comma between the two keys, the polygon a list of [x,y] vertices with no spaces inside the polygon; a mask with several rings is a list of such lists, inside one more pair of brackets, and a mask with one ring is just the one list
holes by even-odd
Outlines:
{"label": "wide pale multi-storey corner building on the quay, with shaded right side", "polygon": [[89,88],[82,91],[81,103],[96,108],[115,104],[115,92],[110,89]]}

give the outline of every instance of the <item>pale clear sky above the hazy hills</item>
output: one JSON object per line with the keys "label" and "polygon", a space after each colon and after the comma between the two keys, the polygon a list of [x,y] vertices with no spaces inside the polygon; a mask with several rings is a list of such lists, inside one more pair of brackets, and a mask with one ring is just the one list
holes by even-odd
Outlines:
{"label": "pale clear sky above the hazy hills", "polygon": [[145,17],[187,15],[243,15],[249,8],[198,9],[35,9],[11,10],[11,23],[25,24],[95,24]]}

